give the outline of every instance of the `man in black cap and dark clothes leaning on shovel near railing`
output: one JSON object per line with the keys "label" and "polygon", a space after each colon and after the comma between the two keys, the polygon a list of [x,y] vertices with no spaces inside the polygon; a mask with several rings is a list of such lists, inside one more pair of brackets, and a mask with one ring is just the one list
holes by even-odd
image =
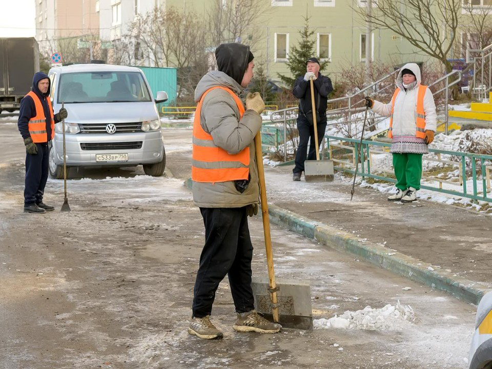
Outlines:
{"label": "man in black cap and dark clothes leaning on shovel near railing", "polygon": [[[304,171],[308,141],[311,139],[308,160],[314,160],[316,159],[316,150],[319,150],[319,145],[326,129],[326,100],[330,92],[333,91],[333,87],[330,78],[321,75],[319,68],[319,60],[315,57],[309,58],[306,61],[306,74],[297,77],[292,91],[292,94],[299,99],[299,115],[297,116],[299,147],[296,153],[296,166],[293,169],[293,180],[295,181],[301,180],[301,173]],[[317,112],[316,125],[318,127],[319,140],[317,148],[314,141],[310,79],[313,79],[314,83],[314,103]]]}

